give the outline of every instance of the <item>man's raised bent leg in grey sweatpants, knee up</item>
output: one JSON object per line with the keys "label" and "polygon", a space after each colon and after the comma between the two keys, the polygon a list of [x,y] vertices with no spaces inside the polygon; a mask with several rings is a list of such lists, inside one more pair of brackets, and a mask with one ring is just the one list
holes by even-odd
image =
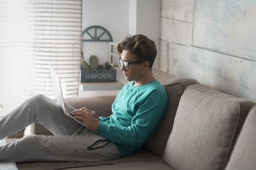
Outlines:
{"label": "man's raised bent leg in grey sweatpants, knee up", "polygon": [[39,122],[55,135],[69,135],[81,127],[64,115],[58,103],[48,97],[31,97],[11,113],[0,119],[0,139]]}

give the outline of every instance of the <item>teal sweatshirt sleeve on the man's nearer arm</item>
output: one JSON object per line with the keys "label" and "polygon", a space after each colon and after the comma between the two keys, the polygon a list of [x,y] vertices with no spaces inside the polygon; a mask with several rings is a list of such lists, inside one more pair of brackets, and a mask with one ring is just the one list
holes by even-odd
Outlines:
{"label": "teal sweatshirt sleeve on the man's nearer arm", "polygon": [[[163,94],[163,93],[162,93]],[[131,125],[99,122],[97,132],[105,138],[122,145],[141,146],[150,137],[163,118],[167,107],[167,96],[153,90],[138,108],[131,120]]]}

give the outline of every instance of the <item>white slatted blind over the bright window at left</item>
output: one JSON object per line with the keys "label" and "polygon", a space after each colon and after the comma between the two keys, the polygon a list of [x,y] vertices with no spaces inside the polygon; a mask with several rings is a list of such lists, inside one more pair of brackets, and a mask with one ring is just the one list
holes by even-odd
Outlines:
{"label": "white slatted blind over the bright window at left", "polygon": [[0,0],[0,115],[28,97],[54,98],[48,64],[64,97],[78,93],[81,0]]}

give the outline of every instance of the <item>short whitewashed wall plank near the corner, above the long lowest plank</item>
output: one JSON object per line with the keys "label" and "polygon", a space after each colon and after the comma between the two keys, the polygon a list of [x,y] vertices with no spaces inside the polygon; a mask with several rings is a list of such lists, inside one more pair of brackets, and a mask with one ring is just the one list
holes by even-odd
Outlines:
{"label": "short whitewashed wall plank near the corner, above the long lowest plank", "polygon": [[193,24],[169,18],[161,18],[160,38],[165,41],[192,45]]}

